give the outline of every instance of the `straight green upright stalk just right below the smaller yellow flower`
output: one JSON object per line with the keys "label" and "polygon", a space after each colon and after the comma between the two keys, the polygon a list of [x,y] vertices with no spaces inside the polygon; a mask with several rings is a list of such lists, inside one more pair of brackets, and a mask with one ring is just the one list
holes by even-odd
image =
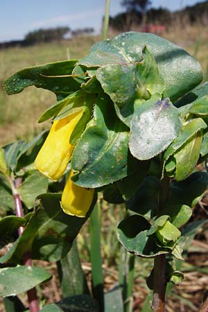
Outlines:
{"label": "straight green upright stalk just right below the smaller yellow flower", "polygon": [[99,303],[99,311],[104,312],[103,269],[101,257],[101,207],[96,204],[89,218],[90,257],[92,262],[92,288],[94,298]]}

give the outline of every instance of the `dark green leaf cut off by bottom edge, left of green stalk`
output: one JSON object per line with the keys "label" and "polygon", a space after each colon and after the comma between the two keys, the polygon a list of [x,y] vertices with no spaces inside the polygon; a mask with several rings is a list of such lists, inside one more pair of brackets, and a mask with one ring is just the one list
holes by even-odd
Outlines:
{"label": "dark green leaf cut off by bottom edge, left of green stalk", "polygon": [[66,297],[56,304],[67,312],[99,312],[98,302],[89,295]]}

